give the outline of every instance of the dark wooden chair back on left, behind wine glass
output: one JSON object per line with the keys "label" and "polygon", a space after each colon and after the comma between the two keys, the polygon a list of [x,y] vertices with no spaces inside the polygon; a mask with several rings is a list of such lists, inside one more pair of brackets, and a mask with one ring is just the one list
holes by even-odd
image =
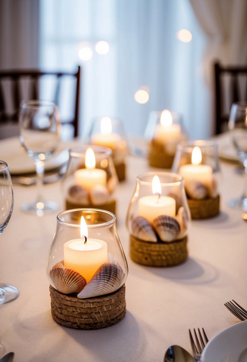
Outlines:
{"label": "dark wooden chair back on left, behind wine glass", "polygon": [[[75,73],[0,70],[0,126],[18,124],[21,100],[48,99],[58,105],[62,126],[67,124],[73,126],[72,135],[78,136],[80,75],[80,67]],[[70,104],[63,112],[66,100]]]}

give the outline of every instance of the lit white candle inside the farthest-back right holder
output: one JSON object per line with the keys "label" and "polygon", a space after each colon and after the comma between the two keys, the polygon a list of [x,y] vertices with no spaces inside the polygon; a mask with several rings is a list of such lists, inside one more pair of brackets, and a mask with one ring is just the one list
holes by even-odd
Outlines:
{"label": "lit white candle inside the farthest-back right holder", "polygon": [[172,123],[171,113],[165,109],[160,116],[160,123],[156,125],[154,138],[159,142],[179,142],[181,136],[181,127]]}

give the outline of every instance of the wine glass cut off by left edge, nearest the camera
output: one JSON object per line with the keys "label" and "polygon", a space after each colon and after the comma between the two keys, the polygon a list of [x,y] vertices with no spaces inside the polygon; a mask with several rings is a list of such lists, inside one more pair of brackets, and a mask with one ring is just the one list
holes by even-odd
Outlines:
{"label": "wine glass cut off by left edge, nearest the camera", "polygon": [[[14,205],[13,186],[8,165],[0,161],[0,234],[11,218]],[[0,304],[10,302],[19,295],[18,289],[13,285],[0,283]]]}

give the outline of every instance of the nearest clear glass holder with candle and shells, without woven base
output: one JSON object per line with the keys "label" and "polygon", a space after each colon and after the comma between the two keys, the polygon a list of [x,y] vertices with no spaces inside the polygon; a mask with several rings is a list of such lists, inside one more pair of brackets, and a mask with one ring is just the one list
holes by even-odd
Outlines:
{"label": "nearest clear glass holder with candle and shells, without woven base", "polygon": [[120,289],[128,266],[115,215],[97,209],[60,212],[46,271],[51,286],[79,299]]}

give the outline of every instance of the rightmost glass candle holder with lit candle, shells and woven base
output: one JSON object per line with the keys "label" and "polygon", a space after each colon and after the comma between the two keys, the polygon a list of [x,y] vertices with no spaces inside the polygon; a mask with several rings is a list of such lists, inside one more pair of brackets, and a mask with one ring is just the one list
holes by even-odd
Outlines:
{"label": "rightmost glass candle holder with lit candle, shells and woven base", "polygon": [[209,140],[183,141],[177,145],[172,172],[184,178],[192,219],[219,214],[220,168],[217,143]]}

